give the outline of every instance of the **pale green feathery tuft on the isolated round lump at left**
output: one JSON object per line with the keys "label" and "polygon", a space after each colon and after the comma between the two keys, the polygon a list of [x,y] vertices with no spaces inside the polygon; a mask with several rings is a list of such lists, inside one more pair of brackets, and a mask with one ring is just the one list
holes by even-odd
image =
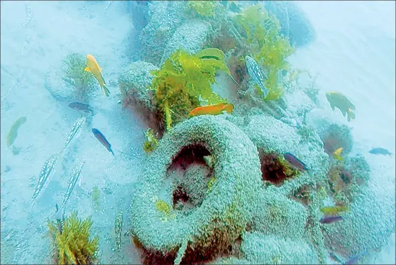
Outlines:
{"label": "pale green feathery tuft on the isolated round lump at left", "polygon": [[68,53],[63,60],[65,72],[62,80],[69,83],[77,100],[86,101],[95,90],[95,80],[90,72],[84,71],[86,57],[80,53]]}

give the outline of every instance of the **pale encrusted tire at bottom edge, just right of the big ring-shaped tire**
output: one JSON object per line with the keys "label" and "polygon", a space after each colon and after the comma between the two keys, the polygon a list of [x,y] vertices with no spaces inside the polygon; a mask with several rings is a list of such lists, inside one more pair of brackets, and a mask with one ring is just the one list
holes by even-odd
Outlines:
{"label": "pale encrusted tire at bottom edge, just right of the big ring-shaped tire", "polygon": [[319,264],[312,246],[301,239],[245,233],[241,247],[251,264]]}

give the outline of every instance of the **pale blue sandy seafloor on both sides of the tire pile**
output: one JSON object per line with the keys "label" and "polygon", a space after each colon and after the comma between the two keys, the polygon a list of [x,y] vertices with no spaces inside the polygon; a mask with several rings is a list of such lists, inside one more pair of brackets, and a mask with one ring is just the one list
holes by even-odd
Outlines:
{"label": "pale blue sandy seafloor on both sides of the tire pile", "polygon": [[[22,26],[25,4],[34,14],[27,28]],[[128,236],[123,236],[121,253],[112,250],[118,210],[124,210],[124,231],[129,226],[126,209],[133,184],[142,172],[141,158],[145,154],[141,147],[147,129],[139,114],[117,104],[117,86],[109,86],[112,94],[108,98],[98,89],[91,101],[96,113],[92,126],[105,134],[117,159],[93,137],[90,128],[84,128],[58,161],[37,204],[32,210],[26,208],[41,166],[60,151],[80,116],[67,107],[68,102],[56,101],[44,88],[48,67],[70,52],[91,53],[107,83],[117,81],[122,67],[135,60],[130,38],[133,25],[125,4],[116,1],[104,11],[107,1],[1,1],[1,264],[50,261],[46,259],[49,237],[44,221],[55,212],[55,203],[62,202],[70,172],[80,161],[86,161],[81,186],[75,186],[67,212],[75,208],[80,217],[92,215],[92,233],[100,236],[101,263],[139,262]],[[337,90],[350,97],[356,106],[356,119],[348,123],[355,137],[352,154],[363,154],[372,170],[390,172],[384,176],[391,178],[381,182],[387,185],[386,191],[389,186],[395,189],[395,156],[368,154],[372,147],[395,153],[395,2],[298,4],[317,30],[317,39],[299,48],[291,62],[319,73],[320,100],[329,112],[325,92]],[[332,115],[345,122],[338,110]],[[18,131],[15,146],[22,150],[13,156],[5,139],[21,116],[27,116],[27,122]],[[93,208],[93,186],[100,189],[99,210]],[[396,263],[395,233],[372,262]]]}

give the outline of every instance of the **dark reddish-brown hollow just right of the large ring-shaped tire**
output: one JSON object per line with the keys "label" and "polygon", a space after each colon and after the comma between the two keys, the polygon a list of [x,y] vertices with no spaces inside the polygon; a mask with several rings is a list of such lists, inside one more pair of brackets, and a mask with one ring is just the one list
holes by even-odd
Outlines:
{"label": "dark reddish-brown hollow just right of the large ring-shaped tire", "polygon": [[279,154],[265,153],[263,149],[259,149],[258,156],[260,157],[261,176],[263,180],[272,184],[279,186],[284,181],[296,177],[299,173]]}

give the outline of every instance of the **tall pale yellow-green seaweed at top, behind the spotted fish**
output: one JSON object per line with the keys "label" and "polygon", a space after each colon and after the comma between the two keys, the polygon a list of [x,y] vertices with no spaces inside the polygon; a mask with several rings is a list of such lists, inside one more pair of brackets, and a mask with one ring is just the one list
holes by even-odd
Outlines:
{"label": "tall pale yellow-green seaweed at top, behind the spotted fish", "polygon": [[256,4],[235,16],[235,22],[247,46],[245,55],[253,55],[265,69],[265,87],[269,90],[265,100],[278,100],[283,95],[284,71],[290,69],[286,59],[294,53],[289,40],[279,33],[279,20]]}

